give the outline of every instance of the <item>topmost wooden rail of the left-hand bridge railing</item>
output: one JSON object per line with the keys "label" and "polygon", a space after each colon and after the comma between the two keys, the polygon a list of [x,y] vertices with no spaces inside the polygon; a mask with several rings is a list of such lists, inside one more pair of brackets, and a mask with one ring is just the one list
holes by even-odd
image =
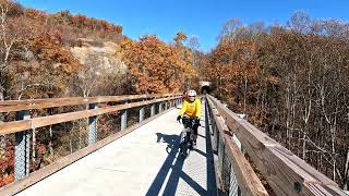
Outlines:
{"label": "topmost wooden rail of the left-hand bridge railing", "polygon": [[99,102],[120,102],[135,99],[152,99],[174,97],[179,95],[156,94],[156,95],[122,95],[122,96],[98,96],[98,97],[69,97],[52,99],[27,99],[0,101],[0,112],[12,112],[20,110],[45,109],[65,106],[77,106]]}

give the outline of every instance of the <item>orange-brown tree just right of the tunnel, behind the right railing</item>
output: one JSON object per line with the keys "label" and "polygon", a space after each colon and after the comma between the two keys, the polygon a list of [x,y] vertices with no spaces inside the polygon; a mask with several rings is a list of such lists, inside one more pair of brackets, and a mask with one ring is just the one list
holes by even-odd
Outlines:
{"label": "orange-brown tree just right of the tunnel, behind the right railing", "polygon": [[260,65],[252,41],[221,42],[209,54],[206,78],[217,86],[217,96],[225,97],[229,106],[246,112],[257,95]]}

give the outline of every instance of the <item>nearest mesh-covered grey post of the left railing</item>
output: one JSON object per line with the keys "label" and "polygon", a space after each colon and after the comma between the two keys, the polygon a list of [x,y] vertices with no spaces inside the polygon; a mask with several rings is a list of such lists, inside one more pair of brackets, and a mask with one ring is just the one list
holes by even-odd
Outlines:
{"label": "nearest mesh-covered grey post of the left railing", "polygon": [[[16,112],[15,120],[31,119],[29,110]],[[15,133],[14,179],[19,181],[29,174],[31,134],[28,131]]]}

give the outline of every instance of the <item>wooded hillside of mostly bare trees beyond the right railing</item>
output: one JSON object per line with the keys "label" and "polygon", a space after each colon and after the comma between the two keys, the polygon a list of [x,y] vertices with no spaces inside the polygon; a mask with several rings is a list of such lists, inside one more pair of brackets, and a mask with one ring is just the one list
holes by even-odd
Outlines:
{"label": "wooded hillside of mostly bare trees beyond the right railing", "polygon": [[217,97],[348,188],[349,24],[296,13],[285,26],[232,19],[202,58]]}

